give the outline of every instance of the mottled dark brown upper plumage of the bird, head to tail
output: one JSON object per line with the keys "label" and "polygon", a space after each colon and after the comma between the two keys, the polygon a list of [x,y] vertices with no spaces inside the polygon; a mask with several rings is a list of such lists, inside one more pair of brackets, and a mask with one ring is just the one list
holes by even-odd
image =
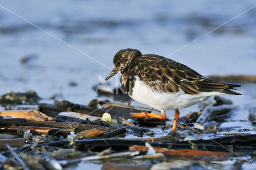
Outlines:
{"label": "mottled dark brown upper plumage of the bird, head to tail", "polygon": [[240,85],[209,80],[188,66],[162,56],[142,55],[138,50],[123,49],[114,56],[114,66],[117,62],[126,65],[120,72],[122,73],[122,87],[128,94],[132,94],[134,86],[131,83],[129,89],[129,80],[133,82],[134,76],[138,76],[140,80],[154,90],[179,92],[182,89],[186,94],[191,95],[196,95],[198,92],[213,91],[240,95],[231,91],[233,87],[240,87]]}

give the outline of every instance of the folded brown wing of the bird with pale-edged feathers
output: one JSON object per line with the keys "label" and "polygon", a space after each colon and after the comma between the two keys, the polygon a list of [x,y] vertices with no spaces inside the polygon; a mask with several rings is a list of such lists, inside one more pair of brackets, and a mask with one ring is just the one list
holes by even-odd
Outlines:
{"label": "folded brown wing of the bird with pale-edged feathers", "polygon": [[[141,67],[134,68],[140,79],[144,80],[144,82],[154,90],[179,92],[181,88],[186,94],[194,95],[198,94],[198,92],[213,92],[219,90],[223,92],[223,90],[229,89],[228,84],[209,80],[184,64],[180,64],[168,58],[164,58],[160,62],[155,63],[152,59],[154,57],[155,56],[144,55],[140,58]],[[157,57],[156,61],[159,61],[160,56]],[[147,59],[152,62],[145,62]]]}

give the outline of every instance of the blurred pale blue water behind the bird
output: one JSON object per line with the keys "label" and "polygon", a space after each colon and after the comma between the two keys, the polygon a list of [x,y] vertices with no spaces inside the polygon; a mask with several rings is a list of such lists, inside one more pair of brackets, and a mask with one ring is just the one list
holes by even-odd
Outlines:
{"label": "blurred pale blue water behind the bird", "polygon": [[[122,48],[168,56],[255,5],[248,1],[4,1],[0,5],[113,67]],[[0,7],[0,94],[35,90],[87,104],[110,70]],[[255,75],[256,8],[168,58],[204,76]],[[30,58],[21,62],[22,58]],[[119,75],[120,76],[120,75]],[[115,86],[115,78],[109,80]],[[120,82],[119,82],[120,83]],[[101,97],[105,99],[106,97]]]}

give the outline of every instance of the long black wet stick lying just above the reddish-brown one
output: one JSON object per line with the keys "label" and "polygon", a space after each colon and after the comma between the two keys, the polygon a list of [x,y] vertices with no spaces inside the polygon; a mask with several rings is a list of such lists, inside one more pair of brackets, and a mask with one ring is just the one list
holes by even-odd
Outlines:
{"label": "long black wet stick lying just above the reddish-brown one", "polygon": [[[214,142],[216,141],[216,142]],[[253,151],[255,147],[249,146],[256,142],[256,134],[236,135],[216,138],[212,140],[193,140],[193,141],[170,141],[170,142],[150,142],[153,147],[168,149],[194,149],[218,152],[234,152]],[[221,144],[221,145],[219,145]],[[112,147],[113,150],[128,149],[129,146],[140,145],[145,146],[144,140],[131,139],[92,139],[79,140],[76,142],[77,150],[102,150]],[[225,146],[225,148],[223,147]]]}

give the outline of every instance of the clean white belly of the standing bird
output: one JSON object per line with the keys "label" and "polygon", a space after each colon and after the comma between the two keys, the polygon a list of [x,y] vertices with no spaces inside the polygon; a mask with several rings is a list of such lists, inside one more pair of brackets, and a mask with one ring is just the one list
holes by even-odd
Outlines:
{"label": "clean white belly of the standing bird", "polygon": [[149,86],[147,86],[143,81],[140,81],[138,76],[136,77],[136,82],[134,83],[134,88],[132,89],[132,99],[146,104],[158,110],[170,110],[178,108],[186,108],[196,104],[197,102],[202,102],[207,100],[210,96],[220,95],[220,92],[200,92],[197,95],[185,94],[185,92],[180,89],[180,92],[161,92],[155,91]]}

